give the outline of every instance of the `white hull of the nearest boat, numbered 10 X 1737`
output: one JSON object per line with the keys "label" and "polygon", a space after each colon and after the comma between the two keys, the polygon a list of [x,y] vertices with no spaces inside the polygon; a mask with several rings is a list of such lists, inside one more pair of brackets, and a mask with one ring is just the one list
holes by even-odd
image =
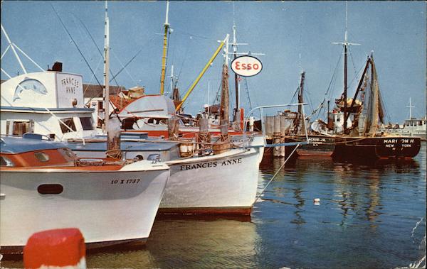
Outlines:
{"label": "white hull of the nearest boat, numbered 10 X 1737", "polygon": [[[146,239],[152,229],[169,170],[148,161],[117,171],[1,171],[0,243],[25,246],[46,229],[80,229],[86,243]],[[117,180],[117,181],[116,181]],[[40,185],[63,186],[60,194],[40,194]]]}

